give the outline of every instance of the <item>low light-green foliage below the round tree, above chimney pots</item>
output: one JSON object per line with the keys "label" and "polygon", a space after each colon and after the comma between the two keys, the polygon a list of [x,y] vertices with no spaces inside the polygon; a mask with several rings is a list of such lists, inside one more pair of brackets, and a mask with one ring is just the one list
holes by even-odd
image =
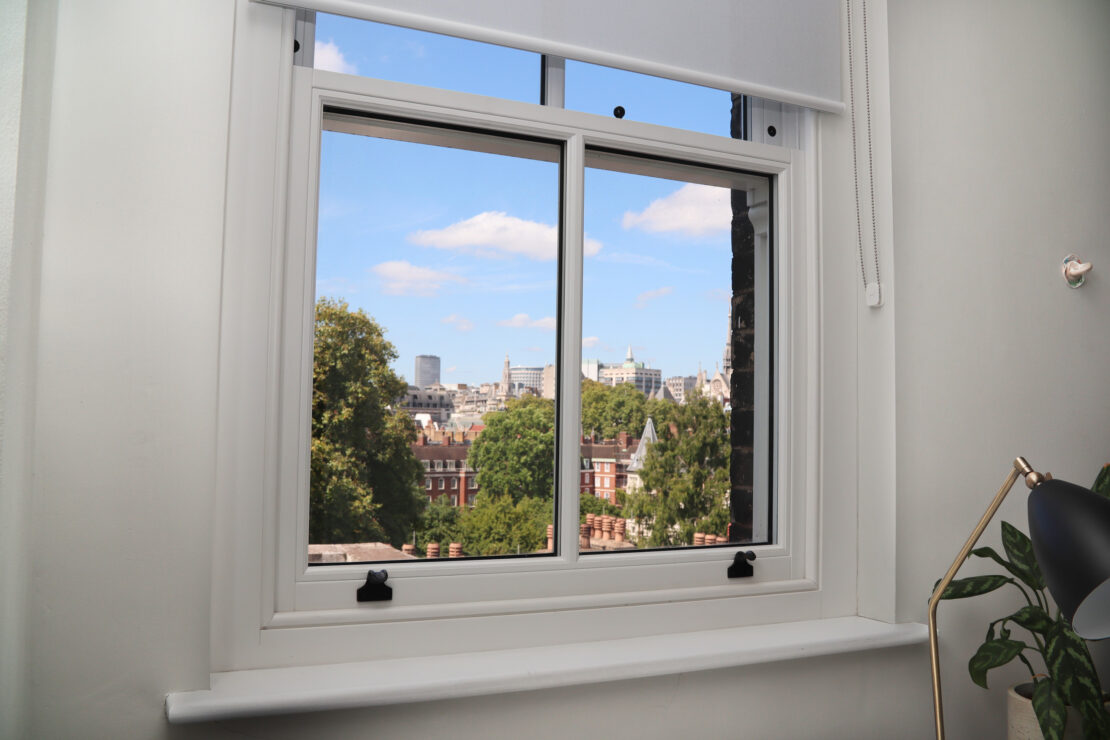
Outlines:
{"label": "low light-green foliage below the round tree, above chimney pots", "polygon": [[552,498],[478,494],[474,508],[460,520],[465,555],[516,555],[547,546],[547,525],[554,520]]}

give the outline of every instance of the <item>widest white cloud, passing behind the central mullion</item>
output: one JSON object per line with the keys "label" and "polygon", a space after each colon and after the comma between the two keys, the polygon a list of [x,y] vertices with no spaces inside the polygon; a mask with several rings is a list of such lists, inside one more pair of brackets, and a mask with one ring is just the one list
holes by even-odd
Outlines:
{"label": "widest white cloud, passing behind the central mullion", "polygon": [[[420,246],[461,250],[480,256],[518,254],[532,260],[554,260],[557,255],[558,230],[555,226],[525,221],[503,211],[485,211],[445,229],[431,229],[408,234],[408,241]],[[602,243],[586,237],[586,255],[597,254]]]}

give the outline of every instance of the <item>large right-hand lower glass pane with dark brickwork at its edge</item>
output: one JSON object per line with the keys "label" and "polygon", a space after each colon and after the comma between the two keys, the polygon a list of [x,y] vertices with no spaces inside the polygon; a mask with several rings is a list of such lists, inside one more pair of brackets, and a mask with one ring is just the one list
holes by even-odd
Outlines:
{"label": "large right-hand lower glass pane with dark brickwork at its edge", "polygon": [[750,543],[768,266],[747,211],[767,179],[602,152],[587,165],[586,231],[605,250],[583,278],[579,549]]}

